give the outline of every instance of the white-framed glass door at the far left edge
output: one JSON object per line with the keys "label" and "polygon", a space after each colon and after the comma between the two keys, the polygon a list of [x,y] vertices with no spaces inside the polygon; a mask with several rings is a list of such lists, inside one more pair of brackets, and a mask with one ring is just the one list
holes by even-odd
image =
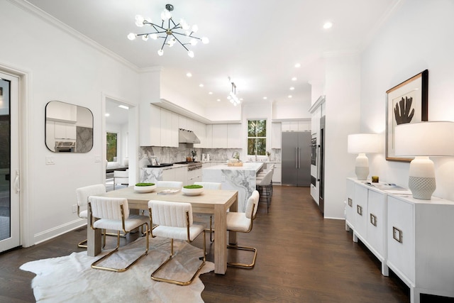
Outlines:
{"label": "white-framed glass door at the far left edge", "polygon": [[18,82],[0,72],[0,252],[21,244]]}

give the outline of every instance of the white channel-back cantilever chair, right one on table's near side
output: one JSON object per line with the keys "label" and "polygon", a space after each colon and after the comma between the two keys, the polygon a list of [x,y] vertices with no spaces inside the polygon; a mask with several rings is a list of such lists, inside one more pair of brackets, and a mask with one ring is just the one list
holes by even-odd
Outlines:
{"label": "white channel-back cantilever chair, right one on table's near side", "polygon": [[[148,202],[148,211],[150,212],[150,226],[157,226],[150,230],[151,236],[170,238],[170,256],[162,263],[152,274],[151,278],[155,281],[167,282],[176,285],[189,285],[199,274],[201,268],[205,264],[206,246],[204,226],[193,224],[192,205],[182,202],[167,202],[150,200]],[[164,277],[157,277],[157,272],[165,267],[167,263],[174,257],[173,241],[174,239],[187,241],[191,243],[200,234],[204,236],[204,255],[201,258],[201,264],[190,280],[177,281]]]}

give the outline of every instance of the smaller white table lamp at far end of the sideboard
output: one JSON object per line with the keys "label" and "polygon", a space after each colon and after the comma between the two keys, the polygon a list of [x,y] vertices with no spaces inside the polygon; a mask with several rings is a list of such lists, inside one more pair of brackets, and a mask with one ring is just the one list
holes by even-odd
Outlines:
{"label": "smaller white table lamp at far end of the sideboard", "polygon": [[366,153],[378,153],[378,135],[376,133],[354,133],[348,135],[348,153],[358,153],[355,160],[355,174],[358,180],[367,180],[369,175],[369,160]]}

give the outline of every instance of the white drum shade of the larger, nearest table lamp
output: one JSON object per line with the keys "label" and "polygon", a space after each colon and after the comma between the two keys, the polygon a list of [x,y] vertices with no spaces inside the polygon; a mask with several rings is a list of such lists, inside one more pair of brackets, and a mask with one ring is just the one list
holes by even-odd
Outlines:
{"label": "white drum shade of the larger, nearest table lamp", "polygon": [[400,156],[454,155],[454,122],[404,123],[394,132],[395,154]]}

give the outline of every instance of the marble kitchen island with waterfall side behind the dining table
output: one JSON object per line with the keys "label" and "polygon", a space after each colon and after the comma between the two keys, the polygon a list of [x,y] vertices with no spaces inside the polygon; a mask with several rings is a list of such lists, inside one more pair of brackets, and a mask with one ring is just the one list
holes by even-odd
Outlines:
{"label": "marble kitchen island with waterfall side behind the dining table", "polygon": [[215,165],[202,169],[202,182],[219,182],[222,189],[238,190],[238,211],[245,211],[248,198],[255,190],[257,172],[264,162],[245,162],[243,166]]}

